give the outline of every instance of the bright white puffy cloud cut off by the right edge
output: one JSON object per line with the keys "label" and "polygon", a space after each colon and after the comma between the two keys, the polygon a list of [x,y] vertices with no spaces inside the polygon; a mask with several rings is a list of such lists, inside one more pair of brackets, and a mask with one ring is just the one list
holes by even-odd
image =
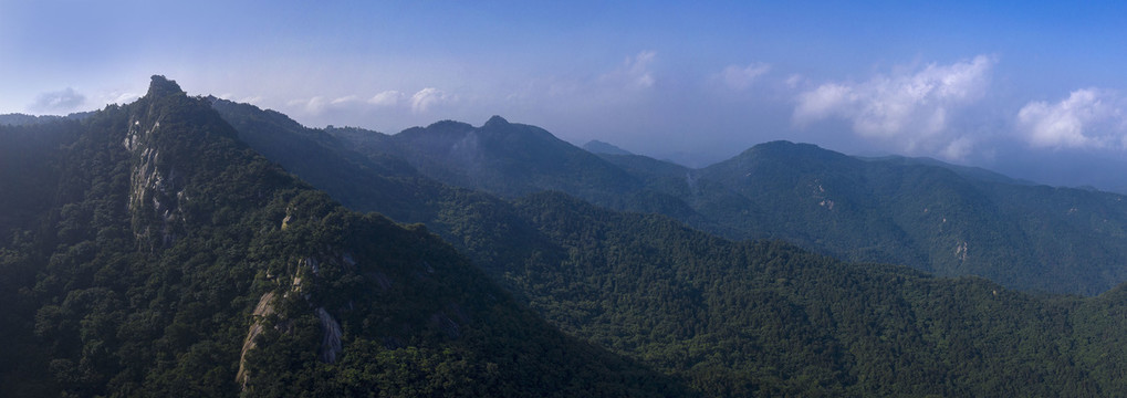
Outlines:
{"label": "bright white puffy cloud cut off by the right edge", "polygon": [[1056,104],[1030,101],[1018,112],[1019,133],[1035,148],[1109,148],[1127,144],[1124,100],[1086,88]]}

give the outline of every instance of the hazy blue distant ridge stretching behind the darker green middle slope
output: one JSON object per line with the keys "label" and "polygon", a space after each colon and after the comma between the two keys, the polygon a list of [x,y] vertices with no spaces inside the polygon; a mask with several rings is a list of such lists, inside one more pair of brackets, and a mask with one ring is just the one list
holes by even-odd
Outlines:
{"label": "hazy blue distant ridge stretching behind the darker green middle slope", "polygon": [[1092,295],[1127,281],[1127,203],[1117,194],[782,141],[691,169],[635,154],[583,154],[499,117],[481,127],[442,122],[394,135],[327,132],[367,156],[399,153],[421,175],[503,197],[560,191],[731,239],[783,239],[848,260],[979,275],[1029,291]]}

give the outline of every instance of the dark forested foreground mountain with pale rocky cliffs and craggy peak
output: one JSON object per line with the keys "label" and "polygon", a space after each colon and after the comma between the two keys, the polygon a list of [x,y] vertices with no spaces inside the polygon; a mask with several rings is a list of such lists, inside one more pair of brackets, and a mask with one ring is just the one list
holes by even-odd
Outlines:
{"label": "dark forested foreground mountain with pale rocky cliffs and craggy peak", "polygon": [[424,227],[336,204],[162,77],[0,142],[0,396],[685,392]]}

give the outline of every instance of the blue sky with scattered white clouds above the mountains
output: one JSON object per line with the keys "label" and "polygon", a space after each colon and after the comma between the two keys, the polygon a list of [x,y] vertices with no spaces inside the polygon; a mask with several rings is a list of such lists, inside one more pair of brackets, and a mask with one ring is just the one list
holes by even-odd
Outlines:
{"label": "blue sky with scattered white clouds above the mountains", "polygon": [[310,126],[491,115],[687,162],[764,141],[1127,186],[1125,2],[0,0],[0,113],[151,74]]}

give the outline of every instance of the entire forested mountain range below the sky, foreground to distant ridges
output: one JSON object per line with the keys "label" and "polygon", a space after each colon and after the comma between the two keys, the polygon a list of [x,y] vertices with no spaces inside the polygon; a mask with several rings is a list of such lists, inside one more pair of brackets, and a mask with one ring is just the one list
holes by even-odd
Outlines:
{"label": "entire forested mountain range below the sky, foreground to distant ridges", "polygon": [[[0,126],[3,396],[1107,396],[1121,196],[149,92]],[[602,149],[600,149],[602,148]],[[597,152],[597,153],[596,153]]]}

